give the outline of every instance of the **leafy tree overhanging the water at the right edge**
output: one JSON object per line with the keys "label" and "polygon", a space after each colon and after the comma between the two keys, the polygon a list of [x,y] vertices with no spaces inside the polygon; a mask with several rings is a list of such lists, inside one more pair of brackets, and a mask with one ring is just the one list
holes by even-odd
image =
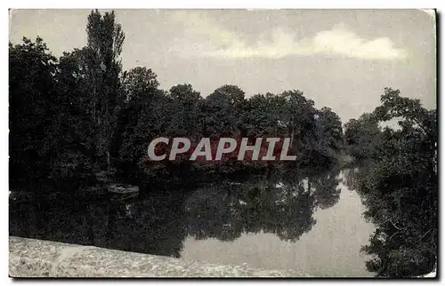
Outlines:
{"label": "leafy tree overhanging the water at the right edge", "polygon": [[376,224],[368,269],[379,276],[427,274],[437,263],[437,118],[417,99],[385,89],[377,120],[401,119],[401,130],[385,128],[378,159],[364,179],[367,218]]}

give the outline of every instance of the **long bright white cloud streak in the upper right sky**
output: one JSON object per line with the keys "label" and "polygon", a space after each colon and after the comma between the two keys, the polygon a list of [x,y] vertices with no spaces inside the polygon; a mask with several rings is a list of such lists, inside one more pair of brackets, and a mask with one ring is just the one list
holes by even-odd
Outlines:
{"label": "long bright white cloud streak in the upper right sky", "polygon": [[[395,48],[388,37],[362,39],[343,24],[301,40],[294,31],[275,28],[268,35],[260,35],[255,44],[248,44],[203,13],[176,12],[174,19],[182,21],[186,36],[195,41],[193,51],[189,51],[193,56],[279,59],[292,55],[325,55],[360,60],[401,60],[408,56],[405,50]],[[187,51],[182,49],[182,52]]]}

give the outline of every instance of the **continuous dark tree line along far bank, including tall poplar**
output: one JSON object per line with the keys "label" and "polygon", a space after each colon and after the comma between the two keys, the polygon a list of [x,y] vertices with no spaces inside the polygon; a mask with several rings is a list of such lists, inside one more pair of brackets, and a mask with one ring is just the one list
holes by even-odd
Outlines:
{"label": "continuous dark tree line along far bank, including tall poplar", "polygon": [[[12,188],[76,190],[102,177],[137,182],[174,176],[178,168],[230,173],[267,167],[148,164],[147,147],[157,137],[292,137],[299,165],[339,158],[340,118],[314,107],[302,91],[247,98],[226,84],[203,97],[188,83],[164,91],[150,68],[123,70],[125,33],[114,12],[91,12],[86,35],[85,47],[59,59],[40,37],[9,45]],[[42,185],[48,182],[55,186]]]}

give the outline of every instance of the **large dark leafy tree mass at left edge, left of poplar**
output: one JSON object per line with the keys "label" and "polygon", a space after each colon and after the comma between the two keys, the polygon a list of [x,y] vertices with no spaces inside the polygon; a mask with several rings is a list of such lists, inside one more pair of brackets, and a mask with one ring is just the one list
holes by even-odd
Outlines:
{"label": "large dark leafy tree mass at left edge, left of poplar", "polygon": [[39,37],[10,44],[12,188],[51,192],[93,183],[92,129],[81,92],[72,57],[57,62]]}

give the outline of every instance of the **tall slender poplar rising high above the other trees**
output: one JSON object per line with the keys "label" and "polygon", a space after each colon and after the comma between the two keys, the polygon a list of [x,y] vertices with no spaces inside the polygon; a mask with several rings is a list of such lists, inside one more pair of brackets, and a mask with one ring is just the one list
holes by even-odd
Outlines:
{"label": "tall slender poplar rising high above the other trees", "polygon": [[82,52],[85,86],[90,91],[88,109],[99,137],[97,155],[101,165],[107,158],[108,169],[117,110],[119,103],[125,99],[119,92],[122,70],[119,57],[125,34],[115,18],[114,12],[105,12],[103,16],[97,10],[90,13],[86,25],[87,45]]}

